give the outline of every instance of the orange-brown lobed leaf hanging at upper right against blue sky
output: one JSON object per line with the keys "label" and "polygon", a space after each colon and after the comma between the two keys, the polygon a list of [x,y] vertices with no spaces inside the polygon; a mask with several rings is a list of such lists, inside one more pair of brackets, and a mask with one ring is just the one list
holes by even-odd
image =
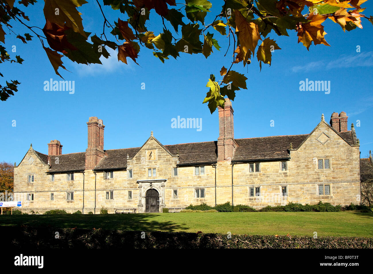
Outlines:
{"label": "orange-brown lobed leaf hanging at upper right against blue sky", "polygon": [[311,13],[307,19],[311,20],[309,23],[300,23],[298,26],[298,43],[302,42],[305,47],[308,48],[310,45],[313,44],[324,44],[330,46],[325,41],[325,34],[324,26],[321,25],[322,22],[325,21],[327,16],[323,15],[314,15]]}

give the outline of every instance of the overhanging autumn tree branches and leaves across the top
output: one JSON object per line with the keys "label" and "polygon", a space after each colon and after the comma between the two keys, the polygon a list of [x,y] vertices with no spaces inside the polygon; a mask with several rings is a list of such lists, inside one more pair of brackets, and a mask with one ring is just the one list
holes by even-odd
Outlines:
{"label": "overhanging autumn tree branches and leaves across the top", "polygon": [[[143,49],[152,50],[163,63],[184,53],[202,53],[208,58],[214,50],[220,50],[216,38],[222,35],[223,39],[229,40],[225,56],[231,50],[232,61],[225,64],[228,69],[223,64],[219,80],[216,81],[213,74],[208,79],[209,91],[203,103],[208,103],[211,113],[218,106],[224,106],[225,96],[234,100],[236,91],[247,89],[247,78],[232,70],[233,64],[246,66],[256,53],[260,69],[262,63],[271,65],[272,53],[281,48],[269,35],[289,36],[288,31],[295,31],[298,43],[309,49],[312,42],[329,46],[322,25],[328,18],[338,23],[343,31],[363,28],[361,18],[373,24],[372,16],[362,14],[365,8],[361,8],[361,4],[367,0],[222,0],[222,10],[211,22],[205,22],[212,7],[207,0],[185,0],[178,4],[175,0],[91,1],[100,8],[101,14],[97,18],[100,16],[103,21],[102,33],[99,31],[98,35],[84,30],[78,7],[88,3],[85,0],[44,0],[46,24],[43,29],[26,25],[24,21],[29,19],[18,8],[34,4],[36,0],[21,0],[17,6],[15,0],[0,0],[0,42],[5,45],[3,27],[12,33],[10,21],[20,22],[38,37],[53,69],[61,76],[58,69],[66,69],[61,60],[63,56],[76,63],[100,64],[101,56],[110,56],[105,48],[110,47],[117,50],[118,61],[126,64],[128,58],[138,64],[139,52]],[[118,13],[117,21],[107,20],[103,6],[110,6]],[[163,29],[148,29],[150,13],[159,16]],[[23,43],[32,38],[29,33],[13,34]],[[44,45],[45,42],[49,47]],[[2,44],[0,63],[22,64],[21,57],[11,59]],[[0,73],[0,76],[3,75]],[[4,87],[0,85],[3,101],[14,95],[20,84],[13,80],[6,83]]]}

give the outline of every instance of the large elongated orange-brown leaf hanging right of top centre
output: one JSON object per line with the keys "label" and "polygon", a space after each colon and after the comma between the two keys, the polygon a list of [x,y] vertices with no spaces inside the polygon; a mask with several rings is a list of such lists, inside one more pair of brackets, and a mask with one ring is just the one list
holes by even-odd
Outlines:
{"label": "large elongated orange-brown leaf hanging right of top centre", "polygon": [[246,18],[239,12],[235,10],[235,23],[236,31],[238,31],[238,39],[240,42],[240,50],[244,55],[244,62],[248,60],[248,52],[254,52],[258,40],[260,38],[258,25],[254,22],[247,22]]}

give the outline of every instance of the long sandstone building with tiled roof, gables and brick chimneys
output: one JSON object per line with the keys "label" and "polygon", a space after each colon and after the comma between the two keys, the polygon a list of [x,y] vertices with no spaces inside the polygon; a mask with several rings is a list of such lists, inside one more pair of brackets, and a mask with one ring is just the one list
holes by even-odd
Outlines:
{"label": "long sandstone building with tiled roof, gables and brick chimneys", "polygon": [[[288,202],[360,202],[359,140],[345,112],[324,116],[309,133],[235,139],[233,108],[219,108],[216,141],[163,145],[151,132],[141,147],[104,149],[103,121],[90,117],[85,152],[48,154],[31,147],[14,169],[15,200],[24,210],[95,214],[162,212],[227,201],[254,208]],[[140,144],[141,145],[141,144]]]}

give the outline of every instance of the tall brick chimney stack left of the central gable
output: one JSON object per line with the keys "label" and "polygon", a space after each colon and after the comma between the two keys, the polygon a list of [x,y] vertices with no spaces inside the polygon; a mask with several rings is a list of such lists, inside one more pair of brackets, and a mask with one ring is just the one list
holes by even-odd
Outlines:
{"label": "tall brick chimney stack left of the central gable", "polygon": [[104,125],[101,119],[90,117],[88,126],[88,147],[85,153],[85,169],[94,169],[104,157]]}

